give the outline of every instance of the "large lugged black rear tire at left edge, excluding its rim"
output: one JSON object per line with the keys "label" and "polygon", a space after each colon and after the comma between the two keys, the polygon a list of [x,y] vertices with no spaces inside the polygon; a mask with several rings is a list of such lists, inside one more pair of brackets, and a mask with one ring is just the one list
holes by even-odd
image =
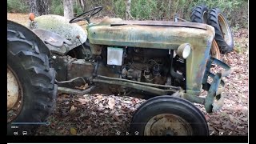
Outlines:
{"label": "large lugged black rear tire at left edge, excluding its rim", "polygon": [[[7,30],[7,69],[13,71],[20,83],[22,104],[17,116],[9,119],[7,111],[7,134],[14,131],[30,133],[38,125],[12,125],[11,122],[45,122],[54,110],[57,94],[55,70],[49,65],[47,54],[38,49],[35,42],[26,40],[19,31]],[[18,126],[18,129],[11,129]]]}

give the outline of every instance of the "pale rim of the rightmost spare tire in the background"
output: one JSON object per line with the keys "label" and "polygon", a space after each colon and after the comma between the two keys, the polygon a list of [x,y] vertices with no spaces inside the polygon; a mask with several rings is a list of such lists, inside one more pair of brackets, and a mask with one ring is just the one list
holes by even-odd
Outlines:
{"label": "pale rim of the rightmost spare tire in the background", "polygon": [[224,41],[231,45],[232,43],[232,35],[231,35],[231,31],[229,29],[229,25],[226,22],[224,16],[222,14],[218,15],[218,26],[220,27],[221,31],[222,31],[222,37],[224,39]]}

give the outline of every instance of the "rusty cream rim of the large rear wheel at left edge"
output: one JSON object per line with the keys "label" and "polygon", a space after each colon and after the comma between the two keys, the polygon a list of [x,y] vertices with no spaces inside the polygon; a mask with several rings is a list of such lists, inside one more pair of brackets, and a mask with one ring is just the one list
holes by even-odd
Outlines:
{"label": "rusty cream rim of the large rear wheel at left edge", "polygon": [[17,74],[7,65],[7,123],[14,121],[22,110],[23,89]]}

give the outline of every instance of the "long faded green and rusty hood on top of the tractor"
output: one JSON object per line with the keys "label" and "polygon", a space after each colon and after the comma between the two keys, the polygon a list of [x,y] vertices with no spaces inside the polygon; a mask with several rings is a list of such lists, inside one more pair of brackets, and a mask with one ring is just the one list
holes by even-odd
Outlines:
{"label": "long faded green and rusty hood on top of the tractor", "polygon": [[88,26],[87,30],[90,44],[94,45],[173,50],[182,43],[190,43],[194,48],[206,47],[215,34],[214,27],[194,22],[104,20]]}

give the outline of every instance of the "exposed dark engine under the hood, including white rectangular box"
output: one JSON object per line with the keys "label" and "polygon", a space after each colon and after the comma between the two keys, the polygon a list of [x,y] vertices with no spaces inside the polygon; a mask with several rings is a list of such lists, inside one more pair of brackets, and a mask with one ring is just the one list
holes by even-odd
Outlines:
{"label": "exposed dark engine under the hood, including white rectangular box", "polygon": [[[102,50],[106,66],[119,67],[119,78],[168,86],[185,86],[185,62],[174,50],[107,47]],[[172,75],[171,71],[175,74]],[[176,77],[175,77],[176,76]]]}

